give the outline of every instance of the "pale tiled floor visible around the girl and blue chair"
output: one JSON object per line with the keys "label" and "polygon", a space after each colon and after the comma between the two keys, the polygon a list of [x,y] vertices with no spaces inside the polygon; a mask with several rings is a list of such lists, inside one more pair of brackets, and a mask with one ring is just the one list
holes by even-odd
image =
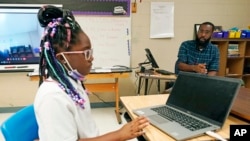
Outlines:
{"label": "pale tiled floor visible around the girl and blue chair", "polygon": [[[122,115],[121,116],[122,123],[118,124],[113,107],[93,108],[92,113],[93,113],[93,117],[95,118],[98,127],[100,128],[101,134],[119,129],[126,123],[126,120],[124,119]],[[0,113],[0,124],[2,124],[2,122],[5,119],[7,119],[9,116],[11,116],[12,114],[13,113]],[[0,141],[4,141],[2,133],[0,134]],[[129,141],[137,141],[137,139],[132,139]]]}

